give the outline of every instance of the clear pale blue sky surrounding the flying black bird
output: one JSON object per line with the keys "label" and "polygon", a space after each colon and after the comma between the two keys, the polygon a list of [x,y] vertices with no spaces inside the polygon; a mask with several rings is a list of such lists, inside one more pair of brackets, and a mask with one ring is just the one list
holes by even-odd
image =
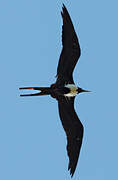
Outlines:
{"label": "clear pale blue sky surrounding the flying black bird", "polygon": [[0,1],[0,179],[70,180],[66,136],[51,97],[19,97],[19,87],[55,82],[64,3],[82,55],[74,80],[84,138],[73,180],[118,179],[118,2]]}

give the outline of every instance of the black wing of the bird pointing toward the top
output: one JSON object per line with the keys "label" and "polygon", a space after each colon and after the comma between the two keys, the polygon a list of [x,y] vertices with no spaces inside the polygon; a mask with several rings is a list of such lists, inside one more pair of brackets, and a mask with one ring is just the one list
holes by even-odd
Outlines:
{"label": "black wing of the bird pointing toward the top", "polygon": [[[73,83],[73,70],[80,57],[81,50],[70,15],[63,5],[62,8],[62,52],[57,67],[57,83]],[[61,81],[61,82],[60,82]]]}

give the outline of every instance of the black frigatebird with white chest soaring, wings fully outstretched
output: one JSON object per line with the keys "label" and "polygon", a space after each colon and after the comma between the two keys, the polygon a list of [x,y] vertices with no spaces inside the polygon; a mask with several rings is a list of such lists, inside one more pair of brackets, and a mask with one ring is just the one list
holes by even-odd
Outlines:
{"label": "black frigatebird with white chest soaring, wings fully outstretched", "polygon": [[58,101],[59,115],[67,136],[67,153],[69,157],[68,170],[73,176],[83,139],[83,125],[75,110],[75,96],[81,92],[89,92],[75,86],[73,70],[80,57],[81,50],[70,15],[63,4],[62,7],[62,44],[63,49],[57,67],[57,80],[50,87],[24,87],[20,89],[39,90],[36,94],[21,94],[21,96],[51,95]]}

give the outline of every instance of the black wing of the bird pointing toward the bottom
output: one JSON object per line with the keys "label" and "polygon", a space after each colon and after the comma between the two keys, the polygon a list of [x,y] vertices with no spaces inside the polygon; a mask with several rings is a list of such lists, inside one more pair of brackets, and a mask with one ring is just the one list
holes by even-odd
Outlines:
{"label": "black wing of the bird pointing toward the bottom", "polygon": [[67,135],[68,170],[70,170],[70,174],[73,176],[82,144],[83,125],[74,110],[73,97],[69,99],[59,97],[57,100],[60,119]]}

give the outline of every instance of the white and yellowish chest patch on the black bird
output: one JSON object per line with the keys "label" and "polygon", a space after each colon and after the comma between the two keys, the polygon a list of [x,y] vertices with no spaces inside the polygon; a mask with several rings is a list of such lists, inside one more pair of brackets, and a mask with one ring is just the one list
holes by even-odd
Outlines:
{"label": "white and yellowish chest patch on the black bird", "polygon": [[77,87],[74,84],[67,84],[65,87],[69,88],[70,92],[68,94],[64,94],[64,96],[73,97],[77,95]]}

